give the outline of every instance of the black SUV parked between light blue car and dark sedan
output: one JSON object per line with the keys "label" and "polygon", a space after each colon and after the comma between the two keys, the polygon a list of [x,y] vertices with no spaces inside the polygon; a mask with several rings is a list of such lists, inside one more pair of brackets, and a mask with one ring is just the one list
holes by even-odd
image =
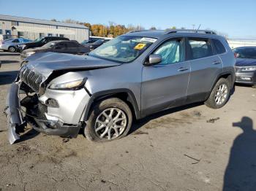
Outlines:
{"label": "black SUV parked between light blue car and dark sedan", "polygon": [[47,44],[48,42],[52,42],[52,41],[56,41],[56,40],[69,40],[69,39],[60,37],[60,36],[46,36],[43,38],[35,39],[34,42],[19,44],[17,46],[17,49],[19,52],[22,52],[23,50],[26,50],[29,48],[42,47],[43,45]]}

